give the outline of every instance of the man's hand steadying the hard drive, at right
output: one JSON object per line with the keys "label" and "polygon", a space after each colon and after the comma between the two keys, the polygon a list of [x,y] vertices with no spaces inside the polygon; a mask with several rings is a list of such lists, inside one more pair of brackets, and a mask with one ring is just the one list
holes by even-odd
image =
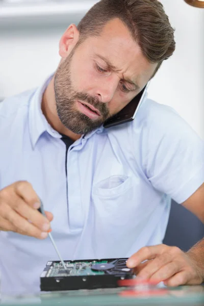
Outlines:
{"label": "man's hand steadying the hard drive, at right", "polygon": [[176,246],[142,247],[127,260],[126,265],[135,268],[138,278],[154,279],[166,286],[199,285],[203,282],[203,268],[199,267],[194,254],[183,252]]}

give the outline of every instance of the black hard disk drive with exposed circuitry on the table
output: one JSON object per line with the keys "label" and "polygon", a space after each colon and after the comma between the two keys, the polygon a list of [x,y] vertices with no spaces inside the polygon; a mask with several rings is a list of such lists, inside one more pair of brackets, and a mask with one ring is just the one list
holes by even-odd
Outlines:
{"label": "black hard disk drive with exposed circuitry on the table", "polygon": [[49,261],[40,277],[41,291],[116,288],[120,279],[134,277],[127,258],[101,260]]}

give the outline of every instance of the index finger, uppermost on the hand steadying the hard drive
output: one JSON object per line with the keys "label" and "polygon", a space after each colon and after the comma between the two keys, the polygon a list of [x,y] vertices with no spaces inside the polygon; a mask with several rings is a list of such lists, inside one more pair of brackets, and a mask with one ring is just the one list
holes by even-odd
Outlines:
{"label": "index finger, uppermost on the hand steadying the hard drive", "polygon": [[126,262],[128,268],[134,268],[145,260],[154,259],[157,255],[165,252],[169,246],[165,244],[144,246],[133,254]]}

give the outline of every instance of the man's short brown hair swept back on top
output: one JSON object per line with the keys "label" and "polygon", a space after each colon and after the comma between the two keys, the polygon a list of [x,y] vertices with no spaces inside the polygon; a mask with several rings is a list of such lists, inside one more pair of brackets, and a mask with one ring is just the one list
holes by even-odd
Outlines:
{"label": "man's short brown hair swept back on top", "polygon": [[147,60],[158,63],[155,75],[175,49],[174,29],[163,5],[158,0],[101,0],[78,24],[80,42],[89,36],[99,36],[104,25],[114,18],[126,25]]}

